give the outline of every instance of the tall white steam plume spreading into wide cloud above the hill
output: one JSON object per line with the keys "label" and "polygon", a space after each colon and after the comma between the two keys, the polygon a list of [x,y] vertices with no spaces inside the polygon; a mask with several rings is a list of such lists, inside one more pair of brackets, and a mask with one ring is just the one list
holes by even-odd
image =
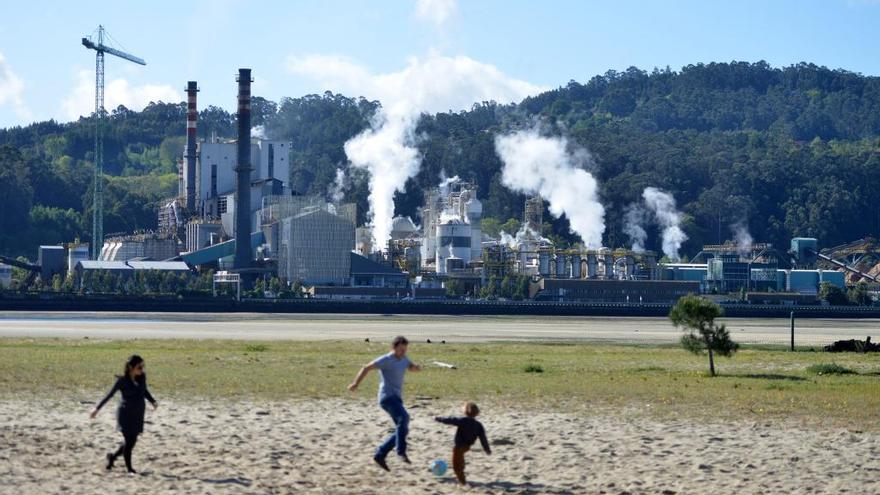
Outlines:
{"label": "tall white steam plume spreading into wide cloud above the hill", "polygon": [[421,165],[415,127],[422,113],[465,110],[489,100],[510,103],[543,90],[463,56],[411,58],[403,69],[385,74],[326,55],[290,57],[287,67],[316,80],[325,90],[382,103],[370,129],[345,143],[351,164],[370,173],[370,219],[378,249],[384,249],[391,237],[394,194],[404,191]]}

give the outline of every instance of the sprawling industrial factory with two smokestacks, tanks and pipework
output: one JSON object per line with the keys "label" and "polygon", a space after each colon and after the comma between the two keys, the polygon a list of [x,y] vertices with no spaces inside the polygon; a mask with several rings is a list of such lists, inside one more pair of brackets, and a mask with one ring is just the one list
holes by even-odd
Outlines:
{"label": "sprawling industrial factory with two smokestacks, tanks and pipework", "polygon": [[[43,280],[210,269],[216,283],[241,289],[277,278],[298,287],[297,296],[313,298],[637,304],[670,303],[689,293],[804,303],[816,301],[823,283],[877,283],[880,269],[865,264],[880,262],[880,249],[864,243],[820,250],[816,239],[796,238],[780,251],[728,242],[704,246],[688,262],[661,261],[636,245],[555,245],[542,235],[545,200],[538,195],[527,197],[517,232],[488,235],[477,185],[458,176],[426,193],[417,218],[394,218],[386,243],[370,225],[357,225],[354,204],[291,189],[290,143],[251,137],[251,81],[250,69],[240,69],[237,136],[202,140],[199,88],[188,82],[178,194],[159,207],[155,231],[109,235],[92,256],[76,242],[41,246],[35,264],[0,258],[0,285],[11,284],[11,266]],[[511,280],[517,290],[495,290]]]}

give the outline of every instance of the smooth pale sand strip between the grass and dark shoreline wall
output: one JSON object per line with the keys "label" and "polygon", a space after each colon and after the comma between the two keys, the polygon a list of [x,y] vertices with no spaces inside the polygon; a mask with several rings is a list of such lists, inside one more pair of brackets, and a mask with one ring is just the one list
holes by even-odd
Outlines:
{"label": "smooth pale sand strip between the grass and dark shoreline wall", "polygon": [[[724,320],[740,343],[788,345],[787,318]],[[827,345],[841,339],[877,336],[880,321],[798,319],[795,342]],[[31,313],[0,312],[2,337],[92,339],[390,340],[450,342],[593,341],[673,344],[681,331],[667,318],[288,315],[200,313]]]}

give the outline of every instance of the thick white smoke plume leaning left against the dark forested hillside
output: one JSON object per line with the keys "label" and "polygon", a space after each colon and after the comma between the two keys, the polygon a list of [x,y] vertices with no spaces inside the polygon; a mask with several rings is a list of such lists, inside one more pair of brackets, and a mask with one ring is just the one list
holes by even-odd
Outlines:
{"label": "thick white smoke plume leaning left against the dark forested hillside", "polygon": [[582,168],[589,159],[586,150],[569,147],[564,137],[545,137],[531,129],[496,137],[495,151],[504,163],[505,186],[547,198],[550,213],[564,213],[588,249],[602,246],[605,208],[596,179]]}

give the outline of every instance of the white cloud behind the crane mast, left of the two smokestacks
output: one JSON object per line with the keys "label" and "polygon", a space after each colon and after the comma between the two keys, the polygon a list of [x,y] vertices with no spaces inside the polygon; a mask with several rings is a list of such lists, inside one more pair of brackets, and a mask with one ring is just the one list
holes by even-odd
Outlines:
{"label": "white cloud behind the crane mast, left of the two smokestacks", "polygon": [[[95,73],[81,70],[76,75],[76,87],[62,99],[62,118],[76,120],[95,111]],[[104,84],[104,108],[112,112],[119,105],[129,110],[142,110],[150,102],[180,102],[183,96],[167,84],[132,85],[116,78]]]}

